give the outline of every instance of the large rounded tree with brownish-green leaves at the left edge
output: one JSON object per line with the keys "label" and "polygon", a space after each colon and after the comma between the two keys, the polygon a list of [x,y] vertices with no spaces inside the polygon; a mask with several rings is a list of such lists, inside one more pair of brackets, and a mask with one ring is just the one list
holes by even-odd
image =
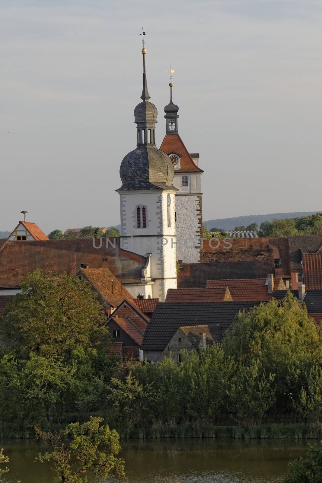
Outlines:
{"label": "large rounded tree with brownish-green leaves at the left edge", "polygon": [[33,352],[69,360],[79,345],[98,346],[109,339],[103,310],[91,285],[67,273],[41,269],[26,275],[21,293],[11,298],[0,319],[2,352],[16,350],[28,357]]}

